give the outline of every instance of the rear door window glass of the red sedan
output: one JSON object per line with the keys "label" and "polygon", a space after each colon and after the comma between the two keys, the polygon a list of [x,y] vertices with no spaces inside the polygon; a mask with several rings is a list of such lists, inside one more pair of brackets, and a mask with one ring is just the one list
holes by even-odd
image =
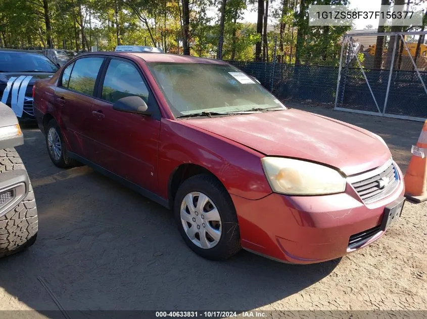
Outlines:
{"label": "rear door window glass of the red sedan", "polygon": [[[93,96],[93,88],[100,71],[103,57],[82,57],[74,62],[68,88],[70,90]],[[64,71],[65,72],[65,71]]]}

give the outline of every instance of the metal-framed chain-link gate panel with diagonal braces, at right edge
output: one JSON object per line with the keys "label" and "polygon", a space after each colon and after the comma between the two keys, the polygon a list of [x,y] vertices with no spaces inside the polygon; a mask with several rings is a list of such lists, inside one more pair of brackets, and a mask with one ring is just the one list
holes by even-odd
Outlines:
{"label": "metal-framed chain-link gate panel with diagonal braces, at right edge", "polygon": [[425,32],[348,34],[343,39],[335,108],[424,120]]}

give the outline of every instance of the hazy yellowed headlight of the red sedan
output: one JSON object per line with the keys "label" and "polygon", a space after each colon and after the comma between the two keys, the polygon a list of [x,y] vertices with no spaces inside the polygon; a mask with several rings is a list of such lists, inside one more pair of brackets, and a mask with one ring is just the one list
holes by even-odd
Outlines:
{"label": "hazy yellowed headlight of the red sedan", "polygon": [[264,157],[265,175],[273,192],[325,195],[344,192],[346,180],[335,169],[292,158]]}

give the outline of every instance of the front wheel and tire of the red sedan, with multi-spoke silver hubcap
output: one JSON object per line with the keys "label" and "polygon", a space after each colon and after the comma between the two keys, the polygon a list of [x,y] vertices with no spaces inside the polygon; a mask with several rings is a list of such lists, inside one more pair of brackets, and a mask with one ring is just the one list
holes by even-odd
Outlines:
{"label": "front wheel and tire of the red sedan, with multi-spoke silver hubcap", "polygon": [[185,243],[200,256],[225,260],[241,249],[234,205],[215,177],[200,174],[185,180],[175,196],[174,215]]}

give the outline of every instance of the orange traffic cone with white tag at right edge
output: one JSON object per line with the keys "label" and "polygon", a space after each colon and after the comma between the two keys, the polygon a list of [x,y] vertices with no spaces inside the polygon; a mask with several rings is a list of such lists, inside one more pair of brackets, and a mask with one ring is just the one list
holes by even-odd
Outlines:
{"label": "orange traffic cone with white tag at right edge", "polygon": [[416,146],[412,146],[411,153],[412,158],[404,177],[405,196],[420,203],[427,200],[427,120]]}

